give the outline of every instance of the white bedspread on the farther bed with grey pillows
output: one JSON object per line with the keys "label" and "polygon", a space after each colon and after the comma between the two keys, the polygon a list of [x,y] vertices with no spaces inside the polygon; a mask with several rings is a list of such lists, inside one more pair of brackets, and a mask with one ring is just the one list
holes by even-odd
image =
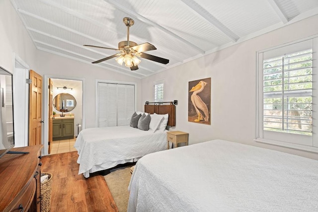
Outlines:
{"label": "white bedspread on the farther bed with grey pillows", "polygon": [[130,126],[88,128],[74,144],[78,150],[79,174],[112,168],[125,162],[166,149],[166,131],[142,131]]}

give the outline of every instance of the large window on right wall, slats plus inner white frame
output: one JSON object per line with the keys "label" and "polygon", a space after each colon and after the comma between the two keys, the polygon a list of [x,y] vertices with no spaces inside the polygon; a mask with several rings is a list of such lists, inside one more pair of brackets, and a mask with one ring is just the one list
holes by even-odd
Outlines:
{"label": "large window on right wall, slats plus inner white frame", "polygon": [[259,52],[256,141],[318,151],[316,39]]}

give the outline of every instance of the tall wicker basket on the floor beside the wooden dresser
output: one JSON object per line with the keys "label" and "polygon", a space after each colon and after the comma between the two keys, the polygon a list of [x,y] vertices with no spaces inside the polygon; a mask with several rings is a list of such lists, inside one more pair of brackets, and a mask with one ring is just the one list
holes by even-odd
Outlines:
{"label": "tall wicker basket on the floor beside the wooden dresser", "polygon": [[48,172],[42,172],[41,177],[44,175],[49,175],[49,179],[41,183],[41,212],[49,212],[51,208],[51,185],[53,175]]}

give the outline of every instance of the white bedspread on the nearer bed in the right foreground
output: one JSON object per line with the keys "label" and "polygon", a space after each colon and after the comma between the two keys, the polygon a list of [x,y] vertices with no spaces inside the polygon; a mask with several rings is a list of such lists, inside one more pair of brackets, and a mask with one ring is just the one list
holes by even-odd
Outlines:
{"label": "white bedspread on the nearer bed in the right foreground", "polygon": [[149,154],[128,212],[318,211],[318,161],[230,141]]}

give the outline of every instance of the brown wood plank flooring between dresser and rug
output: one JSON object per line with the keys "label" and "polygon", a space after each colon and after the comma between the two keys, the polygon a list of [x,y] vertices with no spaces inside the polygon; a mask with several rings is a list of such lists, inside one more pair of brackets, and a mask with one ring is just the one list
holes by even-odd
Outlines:
{"label": "brown wood plank flooring between dresser and rug", "polygon": [[53,175],[51,212],[118,212],[104,177],[84,178],[77,151],[42,157],[41,172]]}

